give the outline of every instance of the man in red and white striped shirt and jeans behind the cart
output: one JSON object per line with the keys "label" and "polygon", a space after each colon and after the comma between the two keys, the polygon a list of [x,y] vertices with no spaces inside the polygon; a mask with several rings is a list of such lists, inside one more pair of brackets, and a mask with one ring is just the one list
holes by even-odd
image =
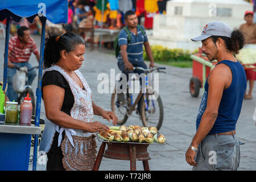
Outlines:
{"label": "man in red and white striped shirt and jeans behind the cart", "polygon": [[[28,63],[31,53],[34,53],[39,63],[39,51],[36,48],[34,40],[30,37],[30,30],[26,26],[19,27],[16,36],[9,41],[8,52],[8,71],[7,71],[7,97],[10,101],[17,101],[18,94],[13,89],[13,77],[16,73],[16,67],[27,67],[31,69],[32,65]],[[32,69],[28,71],[27,85],[32,85],[34,78],[36,77],[36,71]]]}

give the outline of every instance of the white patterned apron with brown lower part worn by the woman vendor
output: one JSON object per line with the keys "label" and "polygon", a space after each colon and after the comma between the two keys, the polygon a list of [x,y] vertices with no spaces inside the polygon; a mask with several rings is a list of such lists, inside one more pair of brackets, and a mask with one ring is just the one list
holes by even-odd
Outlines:
{"label": "white patterned apron with brown lower part worn by the woman vendor", "polygon": [[[53,65],[47,71],[58,71],[65,77],[74,96],[74,105],[71,109],[71,117],[84,122],[93,122],[92,92],[80,71],[75,71],[80,78],[84,90],[59,66]],[[45,128],[40,143],[39,151],[50,150],[55,132],[59,133],[58,146],[63,152],[63,166],[66,170],[90,170],[96,159],[96,142],[94,135],[82,130],[67,129],[55,125],[46,117]],[[62,141],[62,133],[65,138]]]}

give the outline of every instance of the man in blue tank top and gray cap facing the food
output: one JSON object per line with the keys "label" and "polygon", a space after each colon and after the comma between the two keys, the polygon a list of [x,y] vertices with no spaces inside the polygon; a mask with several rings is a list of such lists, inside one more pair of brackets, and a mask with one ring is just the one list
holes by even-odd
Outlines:
{"label": "man in blue tank top and gray cap facing the food", "polygon": [[196,119],[196,134],[185,157],[193,170],[237,170],[240,142],[236,123],[246,90],[243,66],[234,57],[243,47],[239,30],[223,22],[208,23],[200,36],[202,51],[217,64],[205,82],[205,92]]}

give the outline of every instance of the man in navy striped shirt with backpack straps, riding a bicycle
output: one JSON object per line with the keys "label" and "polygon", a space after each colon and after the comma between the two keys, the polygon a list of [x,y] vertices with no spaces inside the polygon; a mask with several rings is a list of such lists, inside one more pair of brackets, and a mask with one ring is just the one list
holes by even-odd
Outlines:
{"label": "man in navy striped shirt with backpack straps, riding a bicycle", "polygon": [[[139,75],[144,73],[141,70],[134,70],[134,67],[142,67],[147,69],[147,65],[143,60],[143,45],[147,53],[147,57],[150,60],[150,68],[154,67],[154,59],[144,27],[138,25],[137,15],[134,13],[134,11],[129,10],[126,11],[124,18],[126,23],[126,30],[123,28],[118,36],[118,46],[120,47],[120,52],[117,57],[117,64],[122,73],[126,75],[126,78],[129,78],[129,73],[138,73]],[[129,31],[130,35],[127,34],[127,30]],[[130,40],[128,40],[129,36]],[[120,81],[121,80],[122,78]],[[125,95],[123,93],[119,93],[117,94],[117,98],[118,102],[121,103],[125,100]],[[139,104],[140,102],[138,102],[138,111]]]}

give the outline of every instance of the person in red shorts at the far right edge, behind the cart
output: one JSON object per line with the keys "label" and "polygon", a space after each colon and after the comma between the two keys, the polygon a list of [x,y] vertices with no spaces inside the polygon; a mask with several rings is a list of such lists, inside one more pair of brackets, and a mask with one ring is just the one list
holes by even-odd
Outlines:
{"label": "person in red shorts at the far right edge, behind the cart", "polygon": [[[240,30],[243,32],[245,36],[245,44],[256,44],[256,24],[253,23],[253,11],[245,12],[245,21],[246,23],[241,24]],[[256,65],[256,64],[254,64]],[[253,70],[246,70],[246,78],[249,81],[249,92],[245,94],[245,99],[253,98],[253,85],[254,80],[256,80],[256,72]]]}

